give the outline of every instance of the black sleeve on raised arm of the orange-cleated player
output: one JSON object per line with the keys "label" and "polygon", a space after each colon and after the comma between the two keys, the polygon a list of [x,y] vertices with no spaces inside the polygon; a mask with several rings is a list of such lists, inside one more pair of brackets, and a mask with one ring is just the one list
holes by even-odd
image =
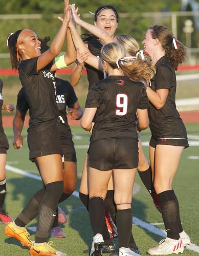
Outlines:
{"label": "black sleeve on raised arm of the orange-cleated player", "polygon": [[23,71],[23,73],[26,74],[27,76],[38,74],[37,59],[38,57],[21,61],[19,64],[19,70]]}

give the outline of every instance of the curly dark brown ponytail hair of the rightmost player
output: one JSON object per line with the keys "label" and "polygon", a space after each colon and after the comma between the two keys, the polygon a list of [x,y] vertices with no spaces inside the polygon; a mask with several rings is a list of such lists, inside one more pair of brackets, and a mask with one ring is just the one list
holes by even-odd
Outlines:
{"label": "curly dark brown ponytail hair of the rightmost player", "polygon": [[150,27],[151,36],[153,39],[158,38],[165,50],[165,55],[168,57],[171,65],[175,70],[186,59],[186,47],[179,40],[175,39],[178,49],[173,46],[173,33],[171,30],[162,25],[154,25]]}

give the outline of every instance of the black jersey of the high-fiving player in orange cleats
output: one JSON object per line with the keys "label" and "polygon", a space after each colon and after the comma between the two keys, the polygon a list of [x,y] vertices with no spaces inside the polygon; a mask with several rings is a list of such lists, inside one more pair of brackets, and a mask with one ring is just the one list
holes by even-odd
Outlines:
{"label": "black jersey of the high-fiving player in orange cleats", "polygon": [[19,78],[30,106],[29,130],[45,130],[59,115],[55,100],[55,78],[50,66],[37,72],[38,57],[22,60]]}

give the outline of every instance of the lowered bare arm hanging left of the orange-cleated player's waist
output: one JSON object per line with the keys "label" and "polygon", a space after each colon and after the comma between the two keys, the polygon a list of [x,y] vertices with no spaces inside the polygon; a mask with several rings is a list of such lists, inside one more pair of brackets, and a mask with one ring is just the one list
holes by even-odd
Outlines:
{"label": "lowered bare arm hanging left of the orange-cleated player's waist", "polygon": [[12,121],[13,132],[14,132],[14,140],[13,146],[18,150],[18,148],[23,146],[23,137],[21,136],[21,131],[24,127],[24,120],[27,112],[20,112],[16,109],[16,114]]}

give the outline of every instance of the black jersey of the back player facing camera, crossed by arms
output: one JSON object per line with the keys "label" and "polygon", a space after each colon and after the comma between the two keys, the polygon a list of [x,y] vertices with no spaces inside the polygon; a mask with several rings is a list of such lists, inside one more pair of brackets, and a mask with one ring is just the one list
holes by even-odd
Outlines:
{"label": "black jersey of the back player facing camera, crossed by arms", "polygon": [[[97,39],[93,39],[88,42],[88,48],[90,52],[100,58],[100,50],[102,48],[102,44]],[[92,84],[102,80],[104,78],[103,72],[93,68],[90,65],[85,65],[86,72],[87,72],[87,79],[89,81],[89,90]]]}

